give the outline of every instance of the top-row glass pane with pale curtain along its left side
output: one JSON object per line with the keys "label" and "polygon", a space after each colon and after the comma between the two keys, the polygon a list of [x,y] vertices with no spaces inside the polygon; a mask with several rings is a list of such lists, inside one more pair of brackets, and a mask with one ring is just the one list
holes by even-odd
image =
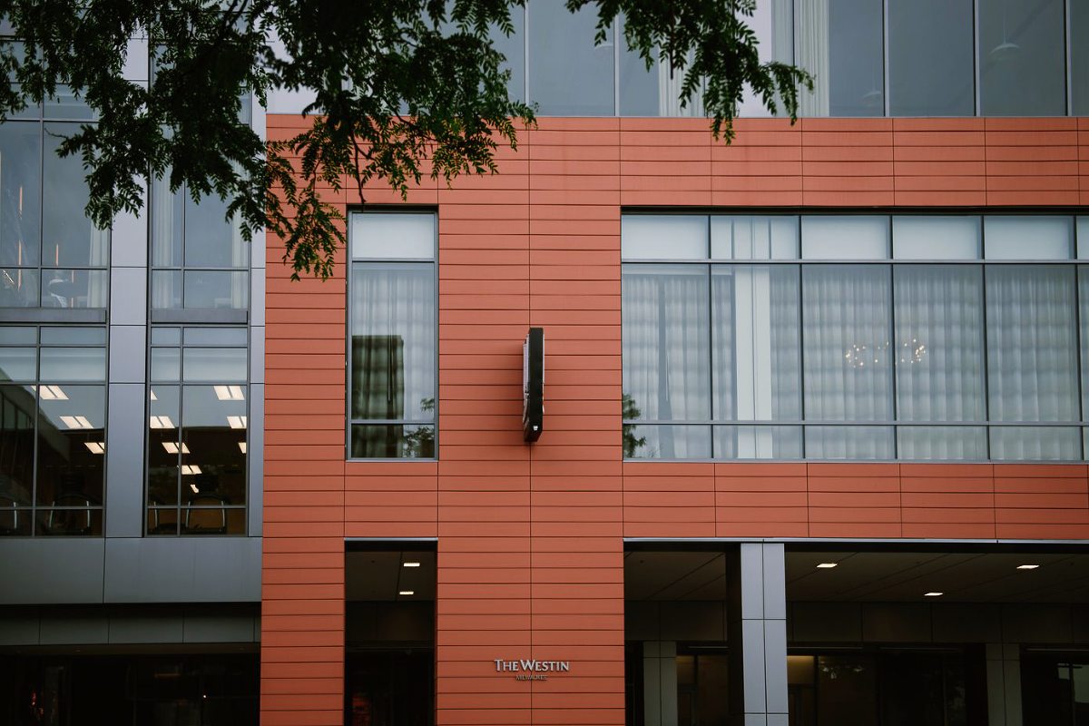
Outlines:
{"label": "top-row glass pane with pale curtain along its left side", "polygon": [[797,11],[797,63],[813,74],[799,115],[884,115],[881,0],[807,0]]}

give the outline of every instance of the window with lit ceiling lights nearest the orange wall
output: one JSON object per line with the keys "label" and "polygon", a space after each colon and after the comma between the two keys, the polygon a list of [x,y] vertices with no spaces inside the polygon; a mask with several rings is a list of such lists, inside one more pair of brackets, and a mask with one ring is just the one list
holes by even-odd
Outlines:
{"label": "window with lit ceiling lights nearest the orange wall", "polygon": [[244,534],[245,328],[151,329],[148,534]]}

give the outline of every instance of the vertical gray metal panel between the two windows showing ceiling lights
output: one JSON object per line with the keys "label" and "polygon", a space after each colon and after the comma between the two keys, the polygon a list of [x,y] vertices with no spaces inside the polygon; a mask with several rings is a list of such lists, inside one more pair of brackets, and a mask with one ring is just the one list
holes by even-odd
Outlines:
{"label": "vertical gray metal panel between the two windows showing ceiling lights", "polygon": [[[143,355],[139,356],[143,359]],[[106,429],[106,536],[144,532],[143,383],[111,383]]]}

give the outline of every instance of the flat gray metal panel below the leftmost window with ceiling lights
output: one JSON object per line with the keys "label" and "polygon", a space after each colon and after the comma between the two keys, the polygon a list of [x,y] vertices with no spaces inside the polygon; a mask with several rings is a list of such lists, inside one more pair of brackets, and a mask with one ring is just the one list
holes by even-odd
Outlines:
{"label": "flat gray metal panel below the leftmost window with ceiling lights", "polygon": [[0,542],[0,605],[102,602],[98,537]]}

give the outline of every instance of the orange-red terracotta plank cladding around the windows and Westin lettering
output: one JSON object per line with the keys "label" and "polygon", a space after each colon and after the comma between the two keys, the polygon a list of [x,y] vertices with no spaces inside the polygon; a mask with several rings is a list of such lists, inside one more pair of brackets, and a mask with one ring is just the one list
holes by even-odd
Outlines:
{"label": "orange-red terracotta plank cladding around the windows and Westin lettering", "polygon": [[622,207],[1089,205],[1089,120],[751,120],[727,147],[701,120],[544,119],[499,156],[407,199],[439,210],[438,462],[345,462],[343,251],[291,283],[268,239],[264,724],[343,723],[345,537],[439,538],[439,724],[565,726],[624,722],[625,537],[1089,538],[1082,465],[623,463],[619,405]]}

